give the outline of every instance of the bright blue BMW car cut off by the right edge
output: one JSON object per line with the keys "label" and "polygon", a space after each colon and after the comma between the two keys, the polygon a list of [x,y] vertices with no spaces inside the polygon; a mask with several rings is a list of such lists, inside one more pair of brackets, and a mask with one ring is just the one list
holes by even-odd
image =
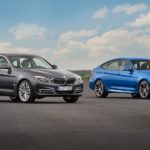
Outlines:
{"label": "bright blue BMW car cut off by the right edge", "polygon": [[97,97],[109,93],[128,93],[134,98],[150,97],[150,59],[117,58],[92,71],[90,88]]}

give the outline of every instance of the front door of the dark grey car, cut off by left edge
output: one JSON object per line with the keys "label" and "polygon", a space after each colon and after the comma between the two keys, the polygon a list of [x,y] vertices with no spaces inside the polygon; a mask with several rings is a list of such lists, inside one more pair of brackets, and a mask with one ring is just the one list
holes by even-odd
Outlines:
{"label": "front door of the dark grey car, cut off by left edge", "polygon": [[[5,68],[2,66],[9,66]],[[15,76],[8,60],[4,56],[0,56],[0,93],[6,94],[13,92]]]}

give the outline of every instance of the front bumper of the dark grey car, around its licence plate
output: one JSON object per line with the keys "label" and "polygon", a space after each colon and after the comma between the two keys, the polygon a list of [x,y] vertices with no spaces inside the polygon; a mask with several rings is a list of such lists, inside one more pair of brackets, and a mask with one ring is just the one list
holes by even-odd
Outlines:
{"label": "front bumper of the dark grey car, around its licence plate", "polygon": [[[58,91],[59,86],[72,86],[72,91]],[[43,85],[40,83],[36,84],[36,96],[37,97],[59,97],[59,96],[69,96],[76,95],[82,96],[83,84],[74,85]]]}

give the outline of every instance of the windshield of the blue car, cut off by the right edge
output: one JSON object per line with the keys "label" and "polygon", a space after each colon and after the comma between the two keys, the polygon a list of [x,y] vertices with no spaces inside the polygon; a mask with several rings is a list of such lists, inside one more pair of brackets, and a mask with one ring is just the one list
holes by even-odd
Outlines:
{"label": "windshield of the blue car, cut off by the right edge", "polygon": [[131,60],[136,70],[150,70],[150,60]]}

